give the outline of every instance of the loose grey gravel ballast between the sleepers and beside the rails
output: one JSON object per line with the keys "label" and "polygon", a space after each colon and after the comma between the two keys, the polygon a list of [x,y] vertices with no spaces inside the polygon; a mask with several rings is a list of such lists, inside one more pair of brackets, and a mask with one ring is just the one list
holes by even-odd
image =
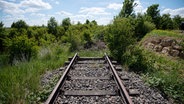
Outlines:
{"label": "loose grey gravel ballast between the sleepers and beside the rails", "polygon": [[[108,65],[103,60],[83,61],[86,64],[75,64],[69,72],[72,77],[108,77],[112,76]],[[100,64],[98,63],[100,62]],[[117,66],[117,65],[116,65]],[[118,65],[119,66],[119,65]],[[62,70],[59,70],[62,69]],[[49,84],[53,77],[60,77],[66,68],[59,68],[46,72],[41,77],[41,85]],[[139,95],[131,96],[134,104],[171,104],[165,99],[161,92],[144,84],[141,76],[134,72],[118,71],[126,89],[138,89]],[[126,78],[125,78],[126,77]],[[118,91],[118,87],[113,79],[68,79],[62,87],[62,90],[109,90]],[[119,95],[117,96],[65,96],[62,93],[57,97],[55,104],[123,104]]]}

